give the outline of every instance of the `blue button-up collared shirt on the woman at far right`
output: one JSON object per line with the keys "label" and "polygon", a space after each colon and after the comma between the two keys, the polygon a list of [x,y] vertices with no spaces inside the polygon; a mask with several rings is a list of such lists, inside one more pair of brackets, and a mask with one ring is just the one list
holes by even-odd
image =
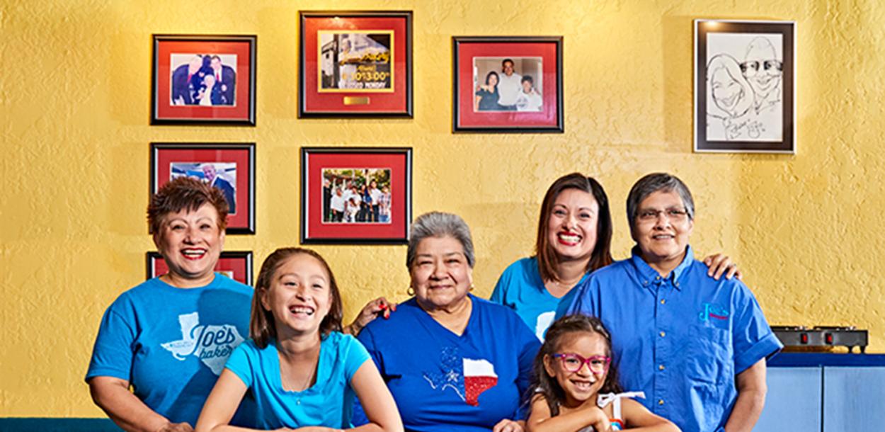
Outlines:
{"label": "blue button-up collared shirt on the woman at far right", "polygon": [[603,321],[621,385],[644,391],[651,412],[683,432],[722,430],[735,375],[783,345],[750,289],[708,276],[691,247],[666,277],[639,254],[591,274],[567,311]]}

